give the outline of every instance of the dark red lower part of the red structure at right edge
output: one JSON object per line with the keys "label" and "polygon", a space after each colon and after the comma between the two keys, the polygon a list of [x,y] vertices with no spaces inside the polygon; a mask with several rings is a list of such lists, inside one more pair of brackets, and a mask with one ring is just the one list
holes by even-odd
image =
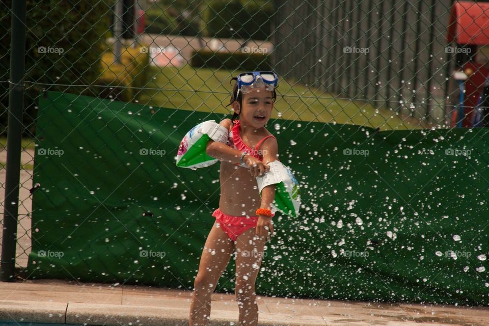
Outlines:
{"label": "dark red lower part of the red structure at right edge", "polygon": [[484,88],[489,69],[476,62],[468,62],[464,65],[464,72],[468,78],[465,81],[464,120],[462,121],[462,127],[471,128],[475,107]]}

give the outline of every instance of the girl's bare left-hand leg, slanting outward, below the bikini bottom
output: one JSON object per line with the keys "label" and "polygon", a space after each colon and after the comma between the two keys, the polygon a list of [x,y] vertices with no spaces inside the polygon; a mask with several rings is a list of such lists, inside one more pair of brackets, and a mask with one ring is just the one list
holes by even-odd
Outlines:
{"label": "girl's bare left-hand leg, slanting outward, below the bikini bottom", "polygon": [[216,223],[207,236],[194,280],[189,326],[206,325],[210,318],[211,295],[233,254],[234,242]]}

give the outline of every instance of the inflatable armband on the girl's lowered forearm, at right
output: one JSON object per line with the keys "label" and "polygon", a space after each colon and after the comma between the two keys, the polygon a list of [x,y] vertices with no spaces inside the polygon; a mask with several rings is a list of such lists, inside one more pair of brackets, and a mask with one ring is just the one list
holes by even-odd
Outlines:
{"label": "inflatable armband on the girl's lowered forearm, at right", "polygon": [[260,196],[264,187],[275,184],[275,203],[273,205],[282,213],[296,218],[301,206],[301,194],[297,180],[292,171],[280,161],[275,160],[268,165],[270,170],[256,178]]}

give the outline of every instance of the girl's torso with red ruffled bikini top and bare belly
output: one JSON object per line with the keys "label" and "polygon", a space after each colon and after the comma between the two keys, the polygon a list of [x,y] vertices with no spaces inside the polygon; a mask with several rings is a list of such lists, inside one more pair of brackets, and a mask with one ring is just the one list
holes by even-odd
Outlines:
{"label": "girl's torso with red ruffled bikini top and bare belly", "polygon": [[[226,145],[238,150],[247,150],[250,155],[263,160],[260,146],[271,134],[254,135],[251,139],[244,140],[239,133],[239,121],[236,122],[229,132]],[[255,216],[256,209],[260,208],[261,198],[258,193],[258,183],[251,175],[250,169],[221,161],[219,179],[221,181],[219,200],[221,211],[234,216]]]}

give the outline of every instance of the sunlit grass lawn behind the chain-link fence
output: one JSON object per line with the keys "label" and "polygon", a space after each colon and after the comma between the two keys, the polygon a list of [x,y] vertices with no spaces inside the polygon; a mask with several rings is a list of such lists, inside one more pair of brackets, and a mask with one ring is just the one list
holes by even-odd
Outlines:
{"label": "sunlit grass lawn behind the chain-link fence", "polygon": [[[236,71],[183,67],[154,66],[148,69],[151,82],[144,90],[140,103],[181,108],[182,110],[232,113],[229,103],[232,86],[229,83]],[[280,77],[280,76],[279,76]],[[272,119],[348,123],[380,127],[382,130],[421,128],[413,119],[403,121],[401,116],[390,110],[377,110],[363,101],[335,99],[334,96],[304,85],[293,85],[279,79]]]}

